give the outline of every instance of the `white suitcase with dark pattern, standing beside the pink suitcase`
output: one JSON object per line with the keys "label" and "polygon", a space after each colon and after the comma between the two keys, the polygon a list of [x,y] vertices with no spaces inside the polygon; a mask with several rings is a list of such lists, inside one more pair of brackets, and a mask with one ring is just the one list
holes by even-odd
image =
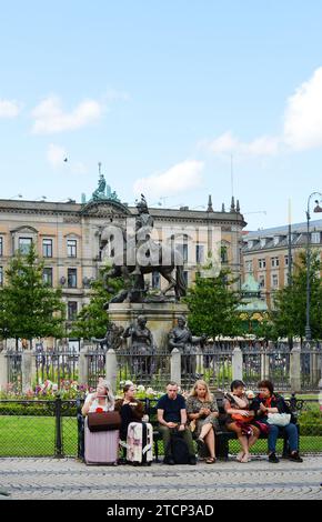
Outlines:
{"label": "white suitcase with dark pattern, standing beside the pink suitcase", "polygon": [[131,422],[128,428],[127,461],[151,465],[153,460],[153,428],[147,422]]}

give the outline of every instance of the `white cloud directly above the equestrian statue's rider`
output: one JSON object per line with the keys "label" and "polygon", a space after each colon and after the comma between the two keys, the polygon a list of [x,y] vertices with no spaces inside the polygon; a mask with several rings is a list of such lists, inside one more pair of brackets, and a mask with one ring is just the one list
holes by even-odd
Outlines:
{"label": "white cloud directly above the equestrian statue's rider", "polygon": [[143,192],[158,198],[162,194],[174,195],[197,189],[202,183],[203,164],[202,161],[185,160],[160,174],[138,179],[133,185],[134,194]]}

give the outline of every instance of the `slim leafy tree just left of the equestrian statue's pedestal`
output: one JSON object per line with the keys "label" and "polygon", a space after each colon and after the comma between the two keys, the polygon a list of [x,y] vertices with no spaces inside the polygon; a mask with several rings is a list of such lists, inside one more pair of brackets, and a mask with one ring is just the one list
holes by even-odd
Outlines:
{"label": "slim leafy tree just left of the equestrian statue's pedestal", "polygon": [[91,283],[91,298],[85,304],[72,325],[70,335],[76,338],[101,339],[107,332],[109,317],[104,304],[115,295],[123,287],[121,278],[109,280],[109,288],[105,285],[105,273],[110,267],[100,270],[99,278]]}

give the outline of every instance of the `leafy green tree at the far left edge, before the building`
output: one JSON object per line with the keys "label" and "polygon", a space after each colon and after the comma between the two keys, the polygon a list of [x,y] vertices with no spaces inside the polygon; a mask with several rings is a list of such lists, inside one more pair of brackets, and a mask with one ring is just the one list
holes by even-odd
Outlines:
{"label": "leafy green tree at the far left edge, before the building", "polygon": [[2,337],[29,339],[64,335],[66,305],[61,290],[43,281],[43,262],[34,247],[20,251],[7,269],[6,285],[0,291]]}

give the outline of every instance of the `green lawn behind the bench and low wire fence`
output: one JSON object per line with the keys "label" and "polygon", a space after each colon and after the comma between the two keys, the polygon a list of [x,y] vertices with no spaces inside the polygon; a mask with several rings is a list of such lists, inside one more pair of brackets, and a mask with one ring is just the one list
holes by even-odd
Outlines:
{"label": "green lawn behind the bench and low wire fence", "polygon": [[[63,453],[77,456],[77,420],[62,418]],[[278,441],[278,453],[282,452],[281,440]],[[260,440],[252,449],[253,454],[265,454],[266,440]],[[163,453],[162,443],[159,445]],[[229,442],[230,453],[240,451],[235,440]],[[301,453],[322,452],[322,436],[301,436]],[[0,456],[53,456],[54,455],[54,418],[50,416],[0,416]]]}

